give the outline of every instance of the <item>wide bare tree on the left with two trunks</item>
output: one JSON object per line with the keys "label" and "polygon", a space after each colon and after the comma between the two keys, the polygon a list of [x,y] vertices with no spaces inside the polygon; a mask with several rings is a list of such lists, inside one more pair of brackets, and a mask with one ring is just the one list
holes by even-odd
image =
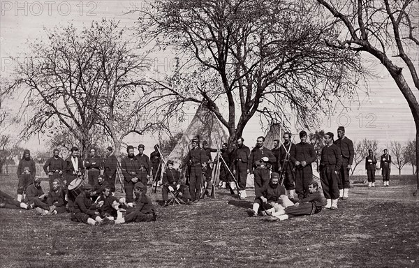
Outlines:
{"label": "wide bare tree on the left with two trunks", "polygon": [[24,137],[66,128],[86,151],[99,131],[119,152],[127,133],[149,130],[131,120],[132,114],[142,116],[135,100],[142,94],[147,61],[128,29],[102,20],[83,29],[69,25],[45,31],[46,40],[29,44],[13,84],[27,89],[24,112],[33,114]]}

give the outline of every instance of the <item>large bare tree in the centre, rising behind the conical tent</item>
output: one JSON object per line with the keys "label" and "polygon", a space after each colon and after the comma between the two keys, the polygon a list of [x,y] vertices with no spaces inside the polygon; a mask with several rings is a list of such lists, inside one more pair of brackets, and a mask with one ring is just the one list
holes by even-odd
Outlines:
{"label": "large bare tree in the centre, rising behind the conical tent", "polygon": [[319,10],[305,1],[157,0],[135,11],[147,29],[140,36],[177,53],[175,70],[154,79],[150,101],[169,114],[205,101],[230,141],[255,114],[293,112],[308,127],[355,94],[358,55],[327,45],[339,32],[316,20]]}

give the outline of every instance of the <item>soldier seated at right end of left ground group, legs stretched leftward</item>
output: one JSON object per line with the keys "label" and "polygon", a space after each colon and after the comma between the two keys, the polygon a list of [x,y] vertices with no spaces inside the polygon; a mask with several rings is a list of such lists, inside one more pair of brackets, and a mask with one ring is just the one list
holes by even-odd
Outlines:
{"label": "soldier seated at right end of left ground group, legs stretched leftward", "polygon": [[145,195],[146,187],[141,182],[134,186],[135,207],[128,207],[126,215],[116,221],[105,218],[104,223],[140,223],[144,221],[156,221],[156,212],[152,200]]}

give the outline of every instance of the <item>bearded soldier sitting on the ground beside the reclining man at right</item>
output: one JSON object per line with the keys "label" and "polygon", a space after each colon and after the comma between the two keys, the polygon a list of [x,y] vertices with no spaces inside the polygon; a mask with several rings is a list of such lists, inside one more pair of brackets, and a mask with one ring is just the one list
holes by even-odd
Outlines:
{"label": "bearded soldier sitting on the ground beside the reclining man at right", "polygon": [[268,184],[263,185],[255,191],[256,198],[253,203],[253,209],[247,209],[249,216],[261,214],[272,214],[277,211],[284,211],[284,208],[293,205],[285,194],[284,186],[279,185],[279,174],[272,172]]}

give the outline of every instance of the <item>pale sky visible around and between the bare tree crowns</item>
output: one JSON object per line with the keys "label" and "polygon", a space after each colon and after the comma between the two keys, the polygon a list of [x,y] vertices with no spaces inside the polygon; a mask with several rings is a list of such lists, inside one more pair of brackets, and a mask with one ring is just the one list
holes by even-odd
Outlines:
{"label": "pale sky visible around and between the bare tree crowns", "polygon": [[[76,27],[89,26],[91,20],[101,20],[102,17],[120,20],[122,25],[132,26],[137,18],[135,14],[125,14],[132,6],[146,8],[145,1],[4,1],[1,0],[0,16],[0,67],[1,75],[8,75],[15,66],[9,57],[18,57],[26,49],[27,40],[44,38],[43,27],[53,27],[57,24],[66,25],[73,23]],[[418,63],[419,51],[416,51]],[[166,70],[170,65],[170,51],[159,54],[154,62],[154,68]],[[393,58],[396,59],[397,58]],[[326,132],[337,132],[338,126],[345,126],[346,135],[352,140],[378,140],[380,147],[387,147],[390,140],[406,142],[415,137],[415,126],[409,106],[402,93],[397,89],[395,82],[386,72],[378,60],[365,56],[365,64],[372,70],[376,77],[367,82],[367,87],[362,87],[358,95],[359,103],[345,103],[348,110],[342,107],[335,114],[323,118],[319,129]],[[406,69],[406,68],[405,68]],[[405,75],[406,80],[412,85],[411,77]],[[365,91],[368,90],[368,94]],[[415,91],[419,98],[418,91]],[[16,110],[24,96],[18,94],[15,101],[10,101],[9,107]],[[191,107],[186,113],[193,117],[196,107]],[[293,119],[291,118],[291,121]],[[186,128],[188,120],[182,128]],[[300,131],[291,128],[295,133]],[[1,130],[5,131],[5,130]],[[6,130],[10,133],[20,131],[20,126]],[[312,130],[314,131],[314,130]],[[258,117],[253,117],[244,129],[245,144],[253,146],[256,137],[264,135]],[[133,144],[154,144],[158,142],[149,135],[130,135],[127,138]],[[38,149],[45,146],[43,137],[34,137],[24,146],[29,149]],[[152,151],[152,146],[146,148],[146,153]],[[408,169],[409,170],[409,169]],[[410,172],[410,170],[409,170]]]}

